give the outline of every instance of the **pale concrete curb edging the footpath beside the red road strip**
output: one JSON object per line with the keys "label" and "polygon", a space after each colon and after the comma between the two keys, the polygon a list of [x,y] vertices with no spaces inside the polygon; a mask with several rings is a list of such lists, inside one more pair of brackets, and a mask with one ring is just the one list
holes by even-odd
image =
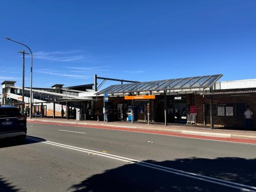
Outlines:
{"label": "pale concrete curb edging the footpath beside the red road strip", "polygon": [[60,123],[60,124],[74,124],[74,125],[99,125],[99,126],[108,126],[108,127],[121,127],[127,129],[143,129],[143,130],[154,130],[154,131],[166,131],[173,133],[182,133],[189,135],[198,135],[198,136],[209,136],[209,137],[221,137],[221,138],[242,138],[242,139],[256,139],[256,136],[253,135],[241,135],[241,134],[225,134],[225,133],[212,133],[212,132],[199,132],[199,131],[188,131],[188,130],[170,130],[164,128],[152,128],[152,127],[144,127],[144,126],[126,126],[126,125],[113,125],[113,124],[95,124],[95,123],[85,123],[85,122],[63,122],[63,121],[48,121],[48,120],[37,120],[37,119],[29,119],[28,122],[32,121],[41,121],[48,123]]}

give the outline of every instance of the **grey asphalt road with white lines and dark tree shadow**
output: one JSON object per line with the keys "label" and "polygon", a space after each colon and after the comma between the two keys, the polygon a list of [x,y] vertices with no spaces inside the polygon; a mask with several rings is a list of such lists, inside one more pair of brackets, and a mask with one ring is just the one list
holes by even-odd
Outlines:
{"label": "grey asphalt road with white lines and dark tree shadow", "polygon": [[256,191],[252,144],[36,123],[1,142],[0,191]]}

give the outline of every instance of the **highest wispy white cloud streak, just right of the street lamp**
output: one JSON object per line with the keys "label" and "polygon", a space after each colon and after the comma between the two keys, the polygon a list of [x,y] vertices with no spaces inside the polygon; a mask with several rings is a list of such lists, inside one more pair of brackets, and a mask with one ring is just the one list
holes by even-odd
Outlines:
{"label": "highest wispy white cloud streak, just right of the street lamp", "polygon": [[33,54],[33,57],[36,59],[62,61],[62,62],[92,60],[92,58],[86,55],[86,52],[82,50],[53,51],[53,52],[38,51]]}

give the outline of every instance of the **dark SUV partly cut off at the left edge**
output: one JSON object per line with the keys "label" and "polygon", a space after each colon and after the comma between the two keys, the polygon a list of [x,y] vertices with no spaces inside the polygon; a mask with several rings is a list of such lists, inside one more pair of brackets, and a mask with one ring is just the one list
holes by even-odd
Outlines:
{"label": "dark SUV partly cut off at the left edge", "polygon": [[16,138],[23,143],[27,135],[27,117],[15,106],[0,106],[0,139]]}

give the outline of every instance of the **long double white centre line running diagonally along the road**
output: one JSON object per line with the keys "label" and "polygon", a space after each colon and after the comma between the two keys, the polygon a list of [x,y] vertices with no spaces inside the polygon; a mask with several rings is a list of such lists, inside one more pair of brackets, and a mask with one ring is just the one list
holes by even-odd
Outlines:
{"label": "long double white centre line running diagonally along the road", "polygon": [[59,146],[59,147],[63,147],[63,148],[68,148],[70,150],[75,150],[75,151],[79,151],[79,152],[83,152],[83,153],[87,153],[87,154],[90,153],[90,154],[94,154],[94,155],[97,155],[97,156],[116,159],[116,160],[124,161],[124,162],[127,162],[127,163],[135,163],[137,165],[141,165],[141,166],[145,166],[145,167],[149,167],[149,168],[153,168],[153,169],[157,169],[157,170],[162,170],[163,172],[172,173],[172,174],[176,174],[176,175],[180,175],[180,176],[185,176],[185,177],[189,177],[189,178],[193,178],[193,179],[198,179],[198,180],[201,180],[201,181],[215,183],[215,184],[228,186],[228,187],[232,187],[232,188],[237,188],[237,189],[240,189],[240,190],[243,190],[243,191],[256,191],[255,186],[249,186],[249,185],[244,185],[244,184],[240,184],[240,183],[236,183],[236,182],[231,182],[231,181],[226,181],[226,180],[217,179],[217,178],[213,178],[213,177],[203,176],[203,175],[200,175],[200,174],[185,172],[185,171],[179,170],[179,169],[174,169],[174,168],[169,168],[169,167],[165,167],[165,166],[161,166],[161,165],[157,165],[157,164],[153,164],[153,163],[147,163],[147,162],[139,161],[139,160],[136,160],[136,159],[130,159],[130,158],[117,156],[117,155],[112,155],[112,154],[105,154],[105,153],[102,153],[102,152],[89,150],[87,148],[80,148],[80,147],[61,144],[61,143],[56,143],[56,142],[52,142],[52,141],[45,141],[45,140],[42,140],[42,139],[37,139],[37,138],[29,137],[29,136],[27,136],[27,139],[34,140],[34,141],[39,141],[39,142],[42,142],[42,143],[55,145],[55,146]]}

